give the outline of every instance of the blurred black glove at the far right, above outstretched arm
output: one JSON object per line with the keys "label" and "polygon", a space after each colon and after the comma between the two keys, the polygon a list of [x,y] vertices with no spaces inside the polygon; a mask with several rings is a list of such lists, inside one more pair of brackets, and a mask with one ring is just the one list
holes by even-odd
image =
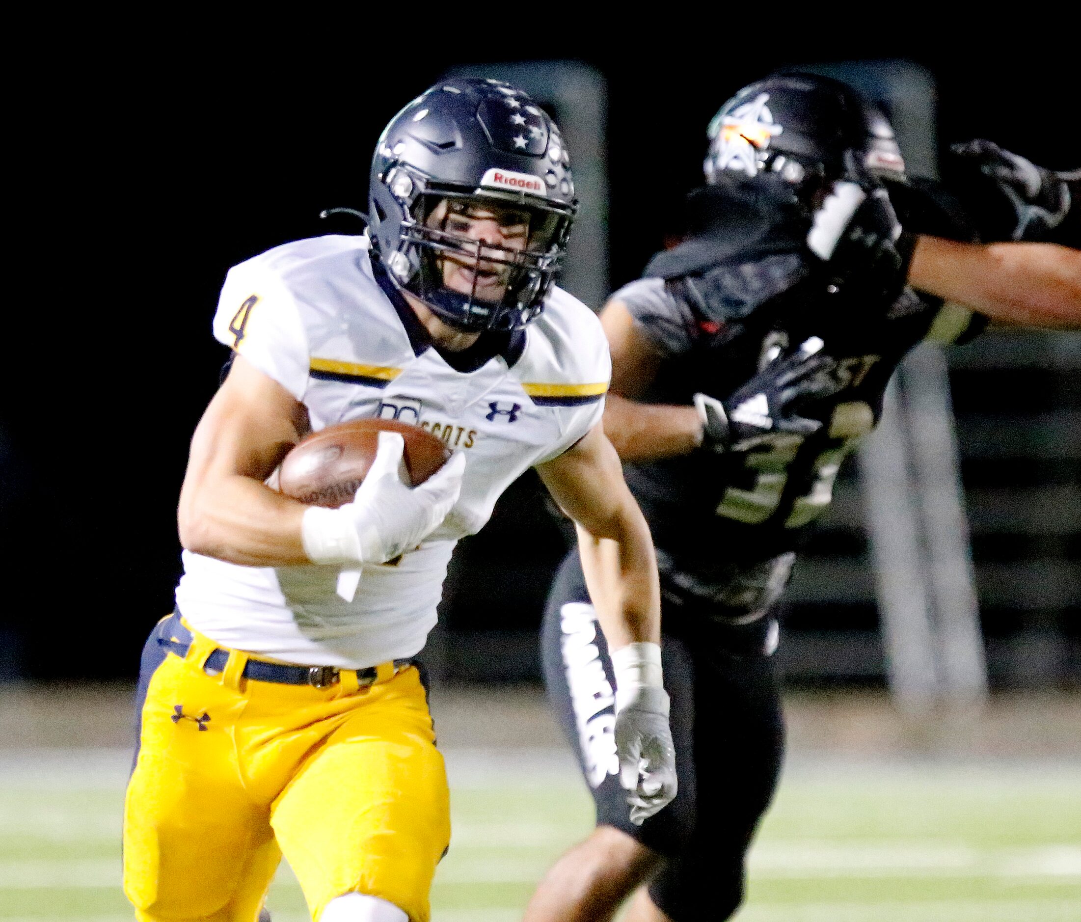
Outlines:
{"label": "blurred black glove at the far right, above outstretched arm", "polygon": [[986,241],[1053,240],[1070,212],[1071,198],[1081,195],[1081,171],[1055,173],[990,141],[955,144],[950,153],[947,186],[972,213]]}

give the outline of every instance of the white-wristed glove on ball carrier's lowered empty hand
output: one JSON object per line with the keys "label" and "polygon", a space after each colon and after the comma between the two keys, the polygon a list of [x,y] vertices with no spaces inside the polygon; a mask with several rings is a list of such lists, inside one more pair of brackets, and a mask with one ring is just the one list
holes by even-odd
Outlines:
{"label": "white-wristed glove on ball carrier's lowered empty hand", "polygon": [[676,797],[676,750],[662,685],[660,647],[631,643],[612,651],[615,672],[615,748],[630,821],[657,813]]}

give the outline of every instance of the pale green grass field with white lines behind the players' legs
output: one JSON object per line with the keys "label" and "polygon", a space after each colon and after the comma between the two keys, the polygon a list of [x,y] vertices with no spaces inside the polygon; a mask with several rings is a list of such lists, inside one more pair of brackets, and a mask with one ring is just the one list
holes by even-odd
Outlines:
{"label": "pale green grass field with white lines behind the players' legs", "polygon": [[[454,840],[436,922],[519,919],[590,802],[561,752],[448,753]],[[120,922],[126,754],[0,754],[0,919]],[[283,868],[275,922],[308,917]],[[750,860],[739,922],[1079,922],[1081,765],[798,758]]]}

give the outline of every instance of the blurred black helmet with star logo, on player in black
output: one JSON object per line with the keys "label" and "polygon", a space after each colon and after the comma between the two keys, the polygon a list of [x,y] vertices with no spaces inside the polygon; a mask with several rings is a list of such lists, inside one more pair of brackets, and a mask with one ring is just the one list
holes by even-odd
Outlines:
{"label": "blurred black helmet with star logo, on player in black", "polygon": [[785,71],[744,86],[713,116],[707,134],[710,184],[730,170],[747,177],[776,173],[798,192],[813,191],[845,175],[848,151],[872,176],[905,179],[890,121],[829,77]]}

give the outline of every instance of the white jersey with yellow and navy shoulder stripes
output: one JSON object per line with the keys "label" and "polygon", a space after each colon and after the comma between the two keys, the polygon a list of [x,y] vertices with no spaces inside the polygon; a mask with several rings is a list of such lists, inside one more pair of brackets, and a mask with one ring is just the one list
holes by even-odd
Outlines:
{"label": "white jersey with yellow and navy shoulder stripes", "polygon": [[558,288],[503,353],[455,370],[373,265],[366,237],[298,240],[235,266],[214,335],[304,403],[313,430],[383,416],[466,455],[443,524],[400,562],[363,566],[351,601],[338,593],[348,567],[240,566],[184,552],[176,603],[196,630],[304,665],[357,669],[418,653],[455,543],[526,468],[600,420],[611,372],[597,317]]}

